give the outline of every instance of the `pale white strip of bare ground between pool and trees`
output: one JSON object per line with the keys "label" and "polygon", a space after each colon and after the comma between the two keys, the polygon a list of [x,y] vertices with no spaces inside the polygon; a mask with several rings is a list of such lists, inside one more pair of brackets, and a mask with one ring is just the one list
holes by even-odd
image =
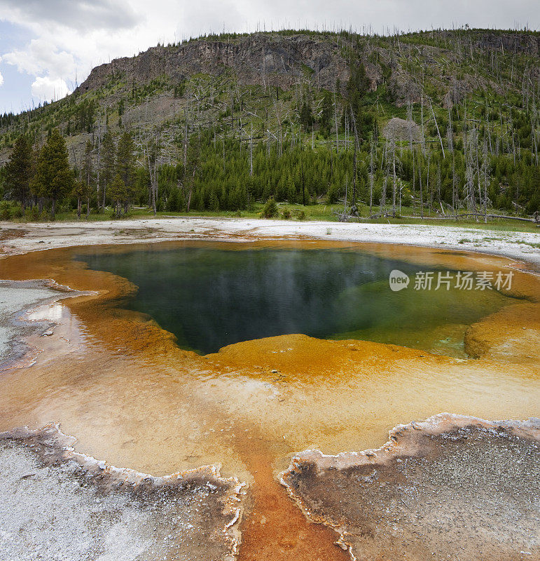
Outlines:
{"label": "pale white strip of bare ground between pool and trees", "polygon": [[[2,237],[6,236],[5,239]],[[19,237],[16,237],[19,236]],[[0,222],[0,255],[103,243],[141,243],[179,239],[307,237],[333,241],[402,243],[504,255],[540,265],[540,229],[513,232],[431,224],[292,222],[242,218],[160,217],[106,222],[13,224]],[[463,243],[459,243],[463,240]],[[1,278],[1,261],[0,261]]]}

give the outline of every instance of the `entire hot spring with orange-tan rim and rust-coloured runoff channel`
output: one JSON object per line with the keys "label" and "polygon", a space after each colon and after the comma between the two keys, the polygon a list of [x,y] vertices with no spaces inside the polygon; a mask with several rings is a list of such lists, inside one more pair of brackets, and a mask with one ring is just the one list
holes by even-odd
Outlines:
{"label": "entire hot spring with orange-tan rim and rust-coloured runoff channel", "polygon": [[[515,278],[508,295],[415,291],[417,271]],[[93,295],[35,312],[60,325],[1,373],[0,431],[59,423],[79,452],[153,475],[221,466],[249,485],[240,561],[347,559],[279,485],[293,454],[379,447],[440,412],[538,416],[539,278],[501,257],[193,241],[34,252],[2,276]]]}

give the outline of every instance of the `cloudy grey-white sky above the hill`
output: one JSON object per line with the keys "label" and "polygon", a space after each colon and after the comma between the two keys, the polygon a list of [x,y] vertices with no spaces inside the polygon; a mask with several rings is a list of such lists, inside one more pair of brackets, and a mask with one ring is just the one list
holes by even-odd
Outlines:
{"label": "cloudy grey-white sky above the hill", "polygon": [[158,42],[281,27],[539,29],[537,0],[0,0],[0,112],[57,99]]}

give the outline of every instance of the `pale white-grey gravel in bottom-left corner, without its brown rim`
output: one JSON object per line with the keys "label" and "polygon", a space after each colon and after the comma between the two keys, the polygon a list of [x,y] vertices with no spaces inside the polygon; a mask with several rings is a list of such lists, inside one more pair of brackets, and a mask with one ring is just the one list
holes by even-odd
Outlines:
{"label": "pale white-grey gravel in bottom-left corner, without its brown rim", "polygon": [[123,496],[100,499],[22,446],[0,451],[0,560],[131,561],[148,550],[151,517]]}

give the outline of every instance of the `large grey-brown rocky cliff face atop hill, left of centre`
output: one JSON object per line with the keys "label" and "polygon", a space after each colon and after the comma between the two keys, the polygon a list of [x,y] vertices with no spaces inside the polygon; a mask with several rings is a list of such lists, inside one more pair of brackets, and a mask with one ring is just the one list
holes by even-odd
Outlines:
{"label": "large grey-brown rocky cliff face atop hill, left of centre", "polygon": [[146,83],[162,74],[182,81],[193,74],[232,72],[241,84],[289,88],[306,74],[321,88],[348,79],[347,62],[335,39],[306,35],[253,34],[234,42],[199,40],[174,47],[154,47],[137,57],[118,58],[95,67],[79,89],[87,92],[121,74]]}

